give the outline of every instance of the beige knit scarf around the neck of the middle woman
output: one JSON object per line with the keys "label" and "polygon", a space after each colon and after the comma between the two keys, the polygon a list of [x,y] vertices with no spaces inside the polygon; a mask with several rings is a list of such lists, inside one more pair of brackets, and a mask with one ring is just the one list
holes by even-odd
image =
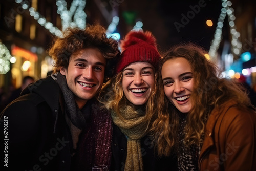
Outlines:
{"label": "beige knit scarf around the neck of the middle woman", "polygon": [[140,139],[147,133],[145,131],[147,127],[145,111],[142,108],[135,109],[134,106],[124,105],[120,108],[120,114],[129,121],[129,123],[120,119],[114,111],[111,112],[111,117],[115,125],[128,137],[127,157],[124,170],[141,171],[143,170],[143,161]]}

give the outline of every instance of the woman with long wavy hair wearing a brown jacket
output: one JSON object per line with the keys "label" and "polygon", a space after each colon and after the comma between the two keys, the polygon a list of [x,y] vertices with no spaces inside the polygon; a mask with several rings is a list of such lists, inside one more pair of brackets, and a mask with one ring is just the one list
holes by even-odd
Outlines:
{"label": "woman with long wavy hair wearing a brown jacket", "polygon": [[157,152],[177,152],[178,170],[256,168],[256,115],[239,84],[221,78],[202,48],[178,45],[159,62]]}

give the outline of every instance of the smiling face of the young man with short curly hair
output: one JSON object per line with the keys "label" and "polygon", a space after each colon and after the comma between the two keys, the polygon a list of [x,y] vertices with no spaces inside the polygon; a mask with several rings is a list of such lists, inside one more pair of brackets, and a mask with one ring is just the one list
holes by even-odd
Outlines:
{"label": "smiling face of the young man with short curly hair", "polygon": [[67,69],[60,69],[80,109],[101,89],[105,65],[106,59],[97,48],[87,48],[70,57]]}

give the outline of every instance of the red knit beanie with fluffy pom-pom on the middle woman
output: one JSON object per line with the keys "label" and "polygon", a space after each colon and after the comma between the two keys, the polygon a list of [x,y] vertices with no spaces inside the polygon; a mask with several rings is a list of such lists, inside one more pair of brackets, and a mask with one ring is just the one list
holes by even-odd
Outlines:
{"label": "red knit beanie with fluffy pom-pom on the middle woman", "polygon": [[156,38],[149,31],[130,31],[124,40],[121,40],[121,51],[115,74],[138,61],[148,62],[156,69],[161,58],[157,51]]}

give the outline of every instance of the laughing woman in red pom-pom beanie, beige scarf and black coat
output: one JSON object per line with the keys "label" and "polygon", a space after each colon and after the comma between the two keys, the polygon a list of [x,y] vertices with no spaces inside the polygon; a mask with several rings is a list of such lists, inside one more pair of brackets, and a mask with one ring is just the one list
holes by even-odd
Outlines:
{"label": "laughing woman in red pom-pom beanie, beige scarf and black coat", "polygon": [[148,31],[130,31],[121,41],[121,50],[115,76],[104,90],[105,107],[114,122],[111,170],[175,169],[172,157],[154,156],[148,134],[154,118],[151,97],[156,90],[155,73],[161,58],[156,39]]}

